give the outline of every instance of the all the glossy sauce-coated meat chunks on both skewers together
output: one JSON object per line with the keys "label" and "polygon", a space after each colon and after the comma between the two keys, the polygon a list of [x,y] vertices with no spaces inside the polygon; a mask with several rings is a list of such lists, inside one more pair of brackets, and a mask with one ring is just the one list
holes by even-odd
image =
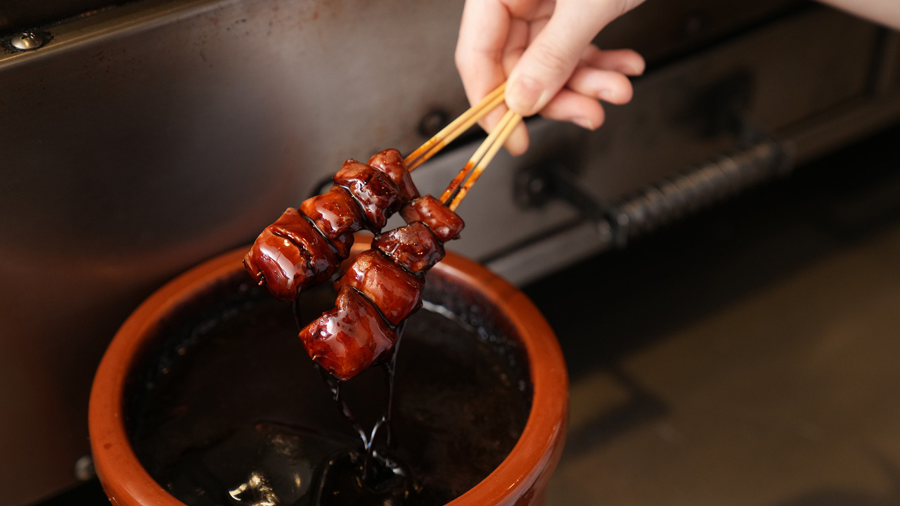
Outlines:
{"label": "all the glossy sauce-coated meat chunks on both skewers together", "polygon": [[393,348],[395,330],[422,305],[425,273],[444,258],[444,242],[464,222],[431,195],[419,196],[396,149],[369,164],[347,160],[326,194],[288,208],[266,227],[244,265],[279,299],[332,276],[349,255],[353,232],[379,232],[398,208],[409,223],[377,235],[335,282],[335,309],[300,332],[313,360],[338,379],[349,379]]}

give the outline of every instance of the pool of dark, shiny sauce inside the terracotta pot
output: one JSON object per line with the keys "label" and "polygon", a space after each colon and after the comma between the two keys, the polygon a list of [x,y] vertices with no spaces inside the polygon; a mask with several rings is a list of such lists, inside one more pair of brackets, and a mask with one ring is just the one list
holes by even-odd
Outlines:
{"label": "pool of dark, shiny sauce inside the terracotta pot", "polygon": [[[126,425],[148,473],[191,505],[437,505],[500,465],[530,410],[527,364],[509,324],[477,294],[429,276],[426,307],[407,323],[395,370],[390,436],[374,462],[297,339],[290,304],[238,276],[163,322]],[[300,320],[334,303],[302,298]],[[437,305],[439,303],[440,305]],[[371,431],[388,399],[373,367],[341,384]],[[390,439],[390,442],[389,442]]]}

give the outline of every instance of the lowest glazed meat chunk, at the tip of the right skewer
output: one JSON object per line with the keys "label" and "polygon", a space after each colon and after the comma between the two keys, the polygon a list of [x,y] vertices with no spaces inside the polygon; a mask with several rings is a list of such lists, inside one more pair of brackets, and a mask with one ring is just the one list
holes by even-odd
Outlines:
{"label": "lowest glazed meat chunk, at the tip of the right skewer", "polygon": [[397,336],[373,303],[345,286],[335,309],[303,328],[300,339],[314,361],[339,380],[347,380],[374,364]]}

